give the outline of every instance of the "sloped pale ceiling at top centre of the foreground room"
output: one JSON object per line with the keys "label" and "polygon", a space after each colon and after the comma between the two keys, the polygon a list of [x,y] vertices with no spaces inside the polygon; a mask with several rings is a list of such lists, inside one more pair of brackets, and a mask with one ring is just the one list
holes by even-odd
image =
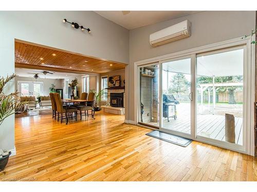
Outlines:
{"label": "sloped pale ceiling at top centre of the foreground room", "polygon": [[99,15],[126,28],[135,29],[138,27],[155,24],[164,20],[170,20],[200,11],[95,11]]}

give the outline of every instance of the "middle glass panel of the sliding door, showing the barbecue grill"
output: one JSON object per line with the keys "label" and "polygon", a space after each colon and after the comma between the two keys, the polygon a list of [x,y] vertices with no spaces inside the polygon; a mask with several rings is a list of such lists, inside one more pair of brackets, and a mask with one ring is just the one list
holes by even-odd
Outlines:
{"label": "middle glass panel of the sliding door, showing the barbecue grill", "polygon": [[191,134],[191,59],[162,63],[162,128]]}

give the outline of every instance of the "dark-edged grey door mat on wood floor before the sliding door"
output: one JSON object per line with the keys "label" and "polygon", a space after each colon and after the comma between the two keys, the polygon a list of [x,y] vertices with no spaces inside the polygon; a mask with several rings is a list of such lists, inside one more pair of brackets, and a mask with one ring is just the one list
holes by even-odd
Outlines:
{"label": "dark-edged grey door mat on wood floor before the sliding door", "polygon": [[145,135],[148,135],[150,137],[154,137],[163,141],[167,141],[176,145],[180,146],[188,146],[193,140],[192,139],[187,139],[184,137],[179,137],[176,135],[172,135],[169,133],[163,133],[160,131],[152,131],[150,133],[147,133]]}

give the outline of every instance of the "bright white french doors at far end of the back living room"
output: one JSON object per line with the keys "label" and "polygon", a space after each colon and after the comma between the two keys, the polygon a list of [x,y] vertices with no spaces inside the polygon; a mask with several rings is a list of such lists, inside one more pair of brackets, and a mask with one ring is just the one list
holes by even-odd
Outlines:
{"label": "bright white french doors at far end of the back living room", "polygon": [[18,92],[20,96],[41,96],[43,95],[43,82],[18,81]]}

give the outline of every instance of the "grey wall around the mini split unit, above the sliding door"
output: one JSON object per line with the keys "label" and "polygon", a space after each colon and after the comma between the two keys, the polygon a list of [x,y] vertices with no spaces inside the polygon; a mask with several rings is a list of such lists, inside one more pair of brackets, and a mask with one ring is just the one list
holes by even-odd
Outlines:
{"label": "grey wall around the mini split unit, above the sliding door", "polygon": [[[189,19],[192,36],[159,47],[149,44],[149,35]],[[242,37],[255,29],[255,11],[205,11],[130,31],[130,66],[126,68],[125,119],[134,120],[134,62],[199,46]],[[127,111],[128,110],[128,111]]]}

